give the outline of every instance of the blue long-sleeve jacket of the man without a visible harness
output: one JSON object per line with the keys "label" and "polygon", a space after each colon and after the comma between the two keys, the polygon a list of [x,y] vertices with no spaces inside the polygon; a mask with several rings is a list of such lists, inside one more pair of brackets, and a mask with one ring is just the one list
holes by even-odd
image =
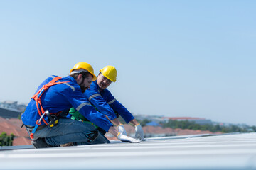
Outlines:
{"label": "blue long-sleeve jacket of the man without a visible harness", "polygon": [[100,111],[100,113],[107,115],[110,120],[117,118],[114,111],[121,115],[126,123],[129,123],[129,121],[134,119],[132,113],[119,103],[109,90],[103,89],[100,91],[97,81],[92,82],[90,89],[87,89],[84,95],[88,98],[90,103]]}

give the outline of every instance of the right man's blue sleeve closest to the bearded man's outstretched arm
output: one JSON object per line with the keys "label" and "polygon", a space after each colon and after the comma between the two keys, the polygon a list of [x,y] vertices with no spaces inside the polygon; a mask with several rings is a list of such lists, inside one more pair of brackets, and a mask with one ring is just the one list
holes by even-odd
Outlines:
{"label": "right man's blue sleeve closest to the bearded man's outstretched arm", "polygon": [[97,111],[99,111],[104,115],[107,115],[107,117],[110,118],[110,120],[117,118],[117,115],[115,115],[113,109],[97,91],[93,91],[92,89],[89,89],[85,91],[84,95],[86,96],[86,98],[88,98],[90,103],[92,103],[92,105],[97,108]]}

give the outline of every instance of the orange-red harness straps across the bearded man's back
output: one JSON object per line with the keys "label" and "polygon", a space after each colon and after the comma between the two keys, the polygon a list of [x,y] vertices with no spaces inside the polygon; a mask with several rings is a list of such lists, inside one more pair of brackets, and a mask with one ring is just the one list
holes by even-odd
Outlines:
{"label": "orange-red harness straps across the bearded man's back", "polygon": [[[45,113],[42,103],[41,103],[41,96],[43,95],[44,92],[46,92],[47,89],[49,89],[50,86],[54,86],[56,84],[63,84],[63,83],[67,83],[68,81],[63,81],[63,82],[56,82],[59,79],[61,79],[61,77],[54,77],[50,82],[48,82],[48,84],[43,85],[43,87],[41,89],[38,90],[38,92],[36,94],[34,94],[34,96],[32,97],[35,101],[36,101],[36,107],[38,110],[38,114],[40,115],[40,117],[43,115],[43,113]],[[41,106],[41,108],[39,108],[39,105]],[[50,113],[50,114],[55,114],[58,115],[60,112],[58,113]],[[46,123],[46,125],[48,125],[48,123],[46,122],[46,120],[43,118],[43,122]],[[37,125],[40,125],[41,122],[39,122],[39,119],[36,121]]]}

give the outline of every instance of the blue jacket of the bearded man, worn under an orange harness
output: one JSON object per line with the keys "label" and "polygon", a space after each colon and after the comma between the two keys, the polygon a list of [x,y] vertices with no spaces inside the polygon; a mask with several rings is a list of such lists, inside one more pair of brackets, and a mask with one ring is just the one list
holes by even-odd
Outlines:
{"label": "blue jacket of the bearded man, worn under an orange harness", "polygon": [[[48,79],[43,81],[43,83],[38,86],[37,91],[41,89],[44,84],[47,84],[49,81],[51,81],[54,77],[55,76],[48,77]],[[59,111],[65,111],[74,107],[83,116],[85,116],[85,118],[108,132],[112,126],[112,123],[107,120],[105,115],[95,110],[87,98],[85,98],[85,96],[82,94],[81,88],[75,79],[68,76],[63,77],[58,81],[68,82],[50,86],[50,88],[46,90],[46,92],[41,96],[41,102],[44,110],[48,110],[50,113],[57,113]],[[26,111],[21,115],[23,124],[35,126],[36,120],[39,118],[40,116],[36,108],[36,101],[31,99],[30,103],[28,103],[28,106],[26,107]],[[43,120],[41,123],[44,124]]]}

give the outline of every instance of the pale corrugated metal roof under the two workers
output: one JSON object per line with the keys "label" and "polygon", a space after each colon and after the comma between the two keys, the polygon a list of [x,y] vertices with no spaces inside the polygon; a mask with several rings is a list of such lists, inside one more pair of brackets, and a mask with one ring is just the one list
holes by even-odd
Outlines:
{"label": "pale corrugated metal roof under the two workers", "polygon": [[256,169],[256,133],[0,152],[0,169]]}

